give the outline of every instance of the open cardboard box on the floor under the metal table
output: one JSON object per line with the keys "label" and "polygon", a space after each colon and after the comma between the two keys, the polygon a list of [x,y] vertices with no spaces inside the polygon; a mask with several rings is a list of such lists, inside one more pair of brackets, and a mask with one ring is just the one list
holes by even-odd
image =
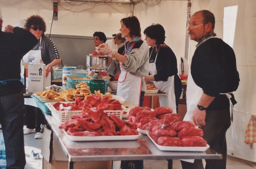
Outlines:
{"label": "open cardboard box on the floor under the metal table", "polygon": [[[42,135],[43,169],[68,169],[68,157],[65,155],[56,135],[45,126]],[[77,161],[74,169],[111,169],[112,161]]]}

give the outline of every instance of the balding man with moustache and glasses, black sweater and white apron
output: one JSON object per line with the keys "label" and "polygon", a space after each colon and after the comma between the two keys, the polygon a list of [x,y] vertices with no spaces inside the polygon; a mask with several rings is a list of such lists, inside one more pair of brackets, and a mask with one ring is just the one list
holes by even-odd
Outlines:
{"label": "balding man with moustache and glasses, black sweater and white apron", "polygon": [[[190,39],[198,42],[187,84],[187,113],[184,121],[202,128],[210,148],[222,159],[205,160],[207,169],[226,168],[226,131],[231,124],[234,95],[239,74],[233,49],[214,33],[215,18],[207,10],[193,14],[189,21]],[[202,160],[181,162],[183,169],[202,169]]]}

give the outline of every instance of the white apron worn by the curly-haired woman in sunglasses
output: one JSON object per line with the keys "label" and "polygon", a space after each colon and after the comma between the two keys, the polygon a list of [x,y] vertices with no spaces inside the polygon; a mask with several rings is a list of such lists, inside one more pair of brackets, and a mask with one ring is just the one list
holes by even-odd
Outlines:
{"label": "white apron worn by the curly-haired woman in sunglasses", "polygon": [[[42,37],[40,38],[39,50],[30,50],[27,52],[22,58],[23,62],[28,64],[43,64],[41,57],[41,39]],[[28,80],[29,78],[26,78],[26,90],[28,90]]]}

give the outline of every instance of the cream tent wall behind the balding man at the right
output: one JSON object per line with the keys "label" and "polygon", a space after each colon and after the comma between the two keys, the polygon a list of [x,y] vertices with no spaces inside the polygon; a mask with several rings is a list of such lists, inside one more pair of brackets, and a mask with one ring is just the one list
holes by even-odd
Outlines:
{"label": "cream tent wall behind the balding man at the right", "polygon": [[[255,0],[192,0],[192,14],[199,10],[213,12],[216,19],[214,32],[223,37],[224,7],[238,5],[233,49],[240,75],[238,90],[234,92],[237,104],[234,105],[235,133],[231,127],[227,131],[227,154],[256,162],[256,148],[244,143],[245,130],[251,114],[256,113],[256,1]],[[223,38],[222,38],[223,39]],[[197,42],[190,41],[190,60]],[[232,125],[233,125],[232,124]],[[255,146],[255,145],[254,145]]]}

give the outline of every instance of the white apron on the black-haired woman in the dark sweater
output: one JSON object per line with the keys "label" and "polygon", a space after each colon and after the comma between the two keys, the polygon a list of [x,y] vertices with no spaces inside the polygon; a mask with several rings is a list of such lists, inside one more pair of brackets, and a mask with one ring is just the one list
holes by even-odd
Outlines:
{"label": "white apron on the black-haired woman in the dark sweater", "polygon": [[[159,48],[159,50],[160,50],[160,48]],[[157,59],[159,50],[157,51],[156,59]],[[151,51],[151,54],[152,54],[152,51]],[[151,54],[149,56],[149,60],[151,58]],[[149,63],[149,73],[151,75],[157,74],[156,59],[155,59],[154,63]],[[174,75],[168,77],[168,80],[166,82],[156,81],[156,82],[154,82],[154,84],[157,89],[159,89],[161,92],[164,92],[167,94],[167,96],[159,96],[160,106],[161,107],[170,107],[170,108],[172,108],[173,113],[177,113],[176,112],[175,93],[174,93]]]}

